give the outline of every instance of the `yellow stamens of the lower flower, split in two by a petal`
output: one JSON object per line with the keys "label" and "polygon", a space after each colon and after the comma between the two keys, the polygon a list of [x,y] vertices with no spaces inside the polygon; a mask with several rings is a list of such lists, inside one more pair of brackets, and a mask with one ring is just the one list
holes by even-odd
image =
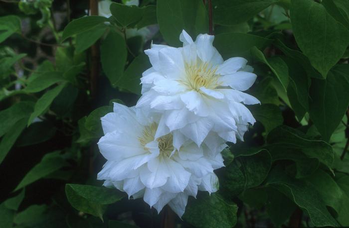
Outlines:
{"label": "yellow stamens of the lower flower, split in two by a petal", "polygon": [[[139,137],[139,141],[145,147],[145,145],[154,140],[155,133],[157,131],[158,124],[153,122],[150,126],[145,126],[143,129],[143,134]],[[160,155],[166,155],[170,157],[173,146],[173,135],[167,134],[156,139],[159,142]],[[145,147],[147,150],[147,148]]]}

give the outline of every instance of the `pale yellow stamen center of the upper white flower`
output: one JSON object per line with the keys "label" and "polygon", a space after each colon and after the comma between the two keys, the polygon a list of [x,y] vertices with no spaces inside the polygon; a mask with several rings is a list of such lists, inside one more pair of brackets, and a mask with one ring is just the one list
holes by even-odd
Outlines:
{"label": "pale yellow stamen center of the upper white flower", "polygon": [[198,91],[201,87],[215,89],[218,87],[217,67],[212,67],[209,63],[199,62],[196,65],[185,64],[186,80],[182,83],[190,90]]}

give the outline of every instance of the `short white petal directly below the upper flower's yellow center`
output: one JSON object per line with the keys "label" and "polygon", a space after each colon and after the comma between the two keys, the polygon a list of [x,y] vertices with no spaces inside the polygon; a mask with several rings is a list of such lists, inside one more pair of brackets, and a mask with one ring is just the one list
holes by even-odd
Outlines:
{"label": "short white petal directly below the upper flower's yellow center", "polygon": [[180,99],[185,104],[185,107],[194,112],[198,116],[207,116],[210,113],[210,108],[205,103],[202,95],[196,91],[189,91],[180,95]]}

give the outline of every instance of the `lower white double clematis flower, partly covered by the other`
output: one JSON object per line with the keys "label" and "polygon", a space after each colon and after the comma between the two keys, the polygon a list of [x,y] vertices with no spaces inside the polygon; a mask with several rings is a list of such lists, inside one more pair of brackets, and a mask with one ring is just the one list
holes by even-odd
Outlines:
{"label": "lower white double clematis flower, partly covered by the other", "polygon": [[129,197],[143,197],[158,212],[169,204],[181,217],[188,196],[198,190],[215,192],[218,178],[214,169],[223,166],[220,151],[198,147],[185,140],[179,149],[173,146],[173,134],[155,137],[159,116],[148,117],[143,110],[114,103],[114,112],[102,119],[105,135],[98,147],[108,160],[97,179],[107,187],[125,191]]}

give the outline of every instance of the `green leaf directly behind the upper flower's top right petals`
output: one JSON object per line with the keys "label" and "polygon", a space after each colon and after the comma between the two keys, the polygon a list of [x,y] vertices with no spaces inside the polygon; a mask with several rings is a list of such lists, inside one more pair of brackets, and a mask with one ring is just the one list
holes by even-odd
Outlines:
{"label": "green leaf directly behind the upper flower's top right petals", "polygon": [[233,56],[249,56],[253,46],[262,49],[271,41],[261,36],[231,32],[216,35],[213,46],[217,48],[224,59],[228,59]]}

